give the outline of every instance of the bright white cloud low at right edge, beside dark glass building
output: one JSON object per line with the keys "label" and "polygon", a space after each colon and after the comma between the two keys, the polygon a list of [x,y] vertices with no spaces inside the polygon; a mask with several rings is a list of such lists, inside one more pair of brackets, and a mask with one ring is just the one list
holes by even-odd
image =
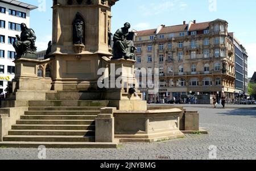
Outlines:
{"label": "bright white cloud low at right edge, beside dark glass building", "polygon": [[256,71],[256,43],[245,45],[245,49],[248,53],[248,78],[251,78]]}

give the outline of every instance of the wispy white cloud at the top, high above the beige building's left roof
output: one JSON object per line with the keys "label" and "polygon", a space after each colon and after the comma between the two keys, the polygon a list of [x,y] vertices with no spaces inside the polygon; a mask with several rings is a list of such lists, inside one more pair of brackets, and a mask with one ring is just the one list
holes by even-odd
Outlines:
{"label": "wispy white cloud at the top, high above the beige building's left roof", "polygon": [[187,6],[187,3],[184,3],[182,0],[159,0],[158,3],[139,6],[139,10],[142,11],[144,16],[152,16],[167,11],[185,10]]}

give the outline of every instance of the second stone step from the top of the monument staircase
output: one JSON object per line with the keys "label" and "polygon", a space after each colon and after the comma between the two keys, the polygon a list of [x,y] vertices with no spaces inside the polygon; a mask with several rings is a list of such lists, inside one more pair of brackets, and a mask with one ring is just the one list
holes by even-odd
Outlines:
{"label": "second stone step from the top of the monument staircase", "polygon": [[45,107],[29,107],[28,110],[98,110],[100,111],[101,108],[104,108],[104,106],[100,107],[79,107],[79,106],[63,106],[63,107],[52,107],[52,106],[45,106]]}

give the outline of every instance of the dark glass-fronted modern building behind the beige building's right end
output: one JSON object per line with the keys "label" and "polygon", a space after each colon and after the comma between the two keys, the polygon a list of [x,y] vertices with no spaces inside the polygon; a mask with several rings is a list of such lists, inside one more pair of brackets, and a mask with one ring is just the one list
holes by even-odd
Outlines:
{"label": "dark glass-fronted modern building behind the beige building's right end", "polygon": [[248,96],[248,55],[246,49],[243,47],[240,41],[234,36],[234,33],[229,33],[229,35],[232,37],[233,44],[235,47],[236,99],[246,99],[246,96]]}

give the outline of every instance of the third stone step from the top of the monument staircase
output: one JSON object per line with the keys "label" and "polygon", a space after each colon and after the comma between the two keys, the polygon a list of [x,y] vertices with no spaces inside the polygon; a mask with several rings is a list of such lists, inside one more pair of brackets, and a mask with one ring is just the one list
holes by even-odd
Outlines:
{"label": "third stone step from the top of the monument staircase", "polygon": [[37,110],[37,111],[26,111],[25,115],[98,115],[100,110]]}

